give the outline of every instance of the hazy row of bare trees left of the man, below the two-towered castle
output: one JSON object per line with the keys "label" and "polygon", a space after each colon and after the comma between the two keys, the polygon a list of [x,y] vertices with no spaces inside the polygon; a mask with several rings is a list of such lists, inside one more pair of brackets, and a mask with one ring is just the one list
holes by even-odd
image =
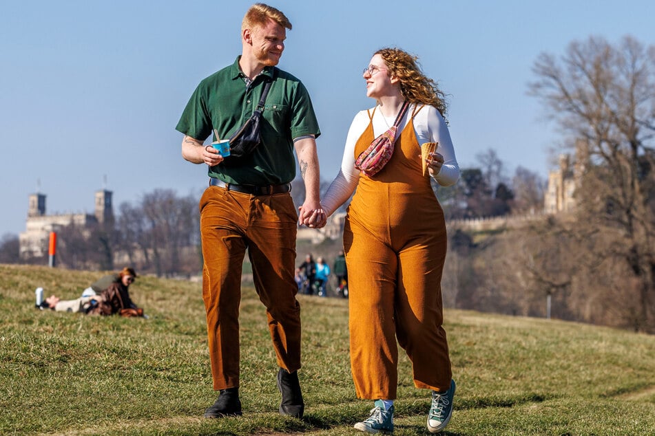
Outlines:
{"label": "hazy row of bare trees left of the man, below the two-towered castle", "polygon": [[[80,226],[74,222],[61,226],[56,231],[56,265],[103,271],[132,265],[142,274],[196,275],[202,266],[198,221],[196,197],[180,196],[171,189],[156,189],[135,204],[121,204],[109,228],[102,224]],[[21,258],[16,235],[4,235],[0,239],[0,263],[47,265],[47,256]]]}

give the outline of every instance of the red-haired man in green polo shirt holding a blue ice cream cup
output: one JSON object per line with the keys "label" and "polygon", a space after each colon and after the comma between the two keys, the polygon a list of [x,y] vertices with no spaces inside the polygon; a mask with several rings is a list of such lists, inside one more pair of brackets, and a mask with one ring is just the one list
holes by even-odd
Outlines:
{"label": "red-haired man in green polo shirt holding a blue ice cream cup", "polygon": [[[209,166],[209,187],[200,199],[202,299],[207,312],[209,356],[218,400],[205,417],[241,415],[239,400],[239,304],[246,249],[253,281],[267,308],[277,358],[280,413],[302,417],[300,305],[295,298],[295,236],[298,212],[289,191],[295,157],[306,198],[300,223],[315,226],[320,174],[315,138],[320,135],[309,93],[300,80],[275,67],[284,50],[289,19],[262,3],[245,14],[242,53],[233,65],[202,80],[176,129],[184,133],[182,155]],[[205,140],[227,139],[250,118],[270,83],[262,111],[261,142],[238,160],[224,158]],[[220,138],[217,138],[220,137]]]}

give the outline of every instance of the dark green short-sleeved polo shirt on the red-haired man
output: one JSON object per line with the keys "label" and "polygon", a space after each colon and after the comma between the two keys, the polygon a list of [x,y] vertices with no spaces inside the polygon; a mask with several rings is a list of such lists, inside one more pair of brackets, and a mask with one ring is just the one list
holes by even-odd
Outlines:
{"label": "dark green short-sleeved polo shirt on the red-haired man", "polygon": [[262,112],[262,143],[238,165],[212,166],[209,177],[258,186],[289,183],[296,168],[293,139],[320,135],[309,93],[298,78],[276,67],[265,67],[246,85],[239,58],[200,82],[176,130],[199,141],[205,141],[212,129],[221,139],[229,138],[256,109],[267,76],[273,82]]}

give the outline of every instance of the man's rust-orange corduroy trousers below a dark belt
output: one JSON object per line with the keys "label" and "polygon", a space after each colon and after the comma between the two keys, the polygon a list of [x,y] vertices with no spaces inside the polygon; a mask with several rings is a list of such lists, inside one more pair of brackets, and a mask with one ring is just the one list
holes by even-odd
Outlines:
{"label": "man's rust-orange corduroy trousers below a dark belt", "polygon": [[200,199],[202,300],[216,390],[239,386],[239,305],[246,250],[278,366],[289,372],[300,369],[300,304],[293,279],[297,222],[289,193],[254,196],[209,186]]}

